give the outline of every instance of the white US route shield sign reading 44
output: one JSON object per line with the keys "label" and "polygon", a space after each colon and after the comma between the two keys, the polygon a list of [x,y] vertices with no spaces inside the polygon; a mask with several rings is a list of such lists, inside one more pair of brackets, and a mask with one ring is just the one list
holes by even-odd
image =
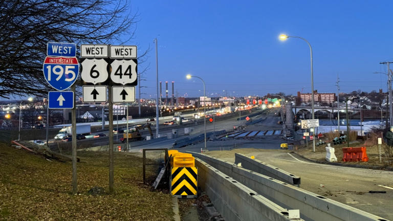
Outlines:
{"label": "white US route shield sign reading 44", "polygon": [[114,60],[111,66],[113,82],[126,85],[137,80],[137,63],[134,60]]}

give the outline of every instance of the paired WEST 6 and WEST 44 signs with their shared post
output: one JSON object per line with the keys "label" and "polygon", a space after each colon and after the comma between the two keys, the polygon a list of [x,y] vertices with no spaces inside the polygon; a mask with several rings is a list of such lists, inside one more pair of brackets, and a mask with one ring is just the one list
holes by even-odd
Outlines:
{"label": "paired WEST 6 and WEST 44 signs with their shared post", "polygon": [[[114,136],[113,103],[135,102],[135,85],[137,85],[137,47],[81,45],[81,78],[88,86],[83,86],[83,102],[105,102],[106,85],[108,89],[109,121],[109,191],[114,192]],[[122,85],[122,86],[119,86]],[[132,86],[127,86],[132,85]],[[117,113],[119,115],[119,113]],[[128,115],[128,105],[127,105]],[[104,125],[104,119],[102,119]],[[118,123],[118,122],[117,122]],[[118,124],[117,124],[118,130]],[[127,116],[128,135],[128,116]],[[128,148],[128,136],[127,136]]]}

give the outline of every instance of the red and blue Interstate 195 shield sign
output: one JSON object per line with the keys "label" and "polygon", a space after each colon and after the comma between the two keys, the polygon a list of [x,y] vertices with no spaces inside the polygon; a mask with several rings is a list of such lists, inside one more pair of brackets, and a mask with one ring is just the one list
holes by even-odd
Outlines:
{"label": "red and blue Interstate 195 shield sign", "polygon": [[79,74],[76,57],[46,57],[43,62],[43,76],[56,90],[64,91],[73,85]]}

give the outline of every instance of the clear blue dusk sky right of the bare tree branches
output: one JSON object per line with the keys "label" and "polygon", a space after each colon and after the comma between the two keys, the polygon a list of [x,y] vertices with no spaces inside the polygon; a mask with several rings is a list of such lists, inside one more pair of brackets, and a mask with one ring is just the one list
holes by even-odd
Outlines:
{"label": "clear blue dusk sky right of the bare tree branches", "polygon": [[[175,81],[179,96],[203,93],[266,95],[311,92],[386,91],[381,61],[393,61],[391,1],[145,1],[131,2],[138,13],[132,43],[150,47],[142,97],[156,96],[153,39],[159,42],[159,80]],[[393,68],[393,64],[392,64]],[[164,87],[164,85],[163,85]],[[164,89],[163,89],[164,90]],[[169,85],[169,94],[170,92]],[[226,92],[224,92],[226,91]]]}

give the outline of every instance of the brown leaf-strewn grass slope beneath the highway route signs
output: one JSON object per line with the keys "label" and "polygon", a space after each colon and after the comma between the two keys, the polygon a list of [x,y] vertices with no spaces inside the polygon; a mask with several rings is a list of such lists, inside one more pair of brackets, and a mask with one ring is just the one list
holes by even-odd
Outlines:
{"label": "brown leaf-strewn grass slope beneath the highway route signs", "polygon": [[[142,159],[115,152],[115,193],[108,191],[108,154],[78,152],[78,195],[72,163],[50,162],[0,143],[0,220],[172,220],[171,196],[143,186]],[[155,175],[150,167],[147,176]]]}

